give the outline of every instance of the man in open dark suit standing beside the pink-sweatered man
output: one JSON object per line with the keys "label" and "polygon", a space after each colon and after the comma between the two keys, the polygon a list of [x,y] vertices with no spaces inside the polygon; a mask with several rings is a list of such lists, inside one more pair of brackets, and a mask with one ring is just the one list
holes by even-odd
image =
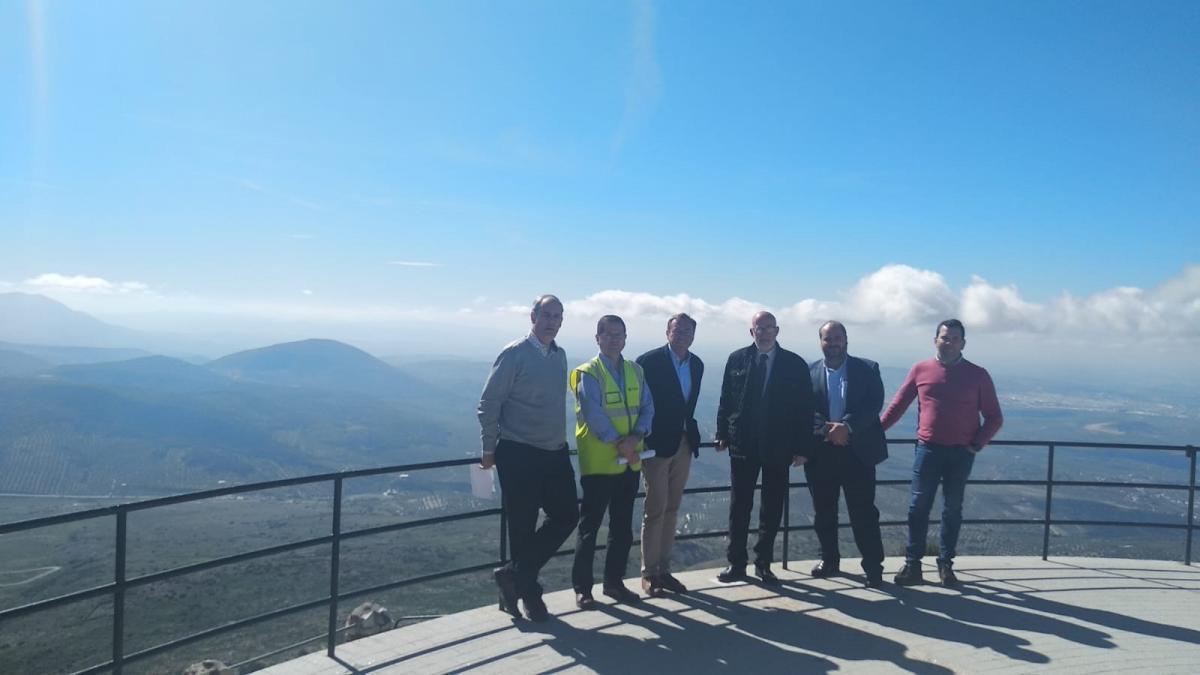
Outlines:
{"label": "man in open dark suit standing beside the pink-sweatered man", "polygon": [[814,437],[816,453],[804,465],[812,494],[814,530],[821,543],[821,561],[814,577],[841,572],[838,550],[838,494],[846,494],[846,510],[854,544],[863,554],[866,586],[883,585],[883,539],[880,509],[875,508],[875,466],[888,458],[888,443],[880,425],[883,380],[875,362],[846,353],[846,327],[826,322],[817,330],[824,358],[812,364],[816,398]]}

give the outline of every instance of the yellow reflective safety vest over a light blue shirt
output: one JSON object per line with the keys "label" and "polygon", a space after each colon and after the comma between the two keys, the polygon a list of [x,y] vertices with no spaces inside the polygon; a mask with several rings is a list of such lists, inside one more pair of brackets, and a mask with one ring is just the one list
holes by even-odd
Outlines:
{"label": "yellow reflective safety vest over a light blue shirt", "polygon": [[[637,425],[637,410],[642,405],[642,387],[646,386],[646,376],[642,366],[630,359],[622,359],[624,364],[625,390],[617,387],[617,380],[605,368],[600,357],[595,357],[588,363],[571,371],[571,392],[575,394],[575,440],[580,448],[580,474],[592,476],[596,473],[617,474],[625,471],[626,465],[617,464],[617,444],[605,443],[598,438],[583,418],[583,406],[580,400],[583,389],[580,380],[584,375],[590,375],[604,387],[604,411],[608,414],[608,420],[620,436],[629,435]],[[646,448],[644,442],[637,443],[637,452]],[[634,471],[642,470],[642,462],[628,465]]]}

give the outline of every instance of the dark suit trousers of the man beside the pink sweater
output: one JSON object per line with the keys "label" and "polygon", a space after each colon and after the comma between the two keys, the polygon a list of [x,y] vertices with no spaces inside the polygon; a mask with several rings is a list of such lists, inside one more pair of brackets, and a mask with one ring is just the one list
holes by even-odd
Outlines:
{"label": "dark suit trousers of the man beside the pink sweater", "polygon": [[846,510],[854,544],[863,555],[863,572],[883,571],[880,509],[875,508],[875,466],[866,466],[846,447],[822,443],[821,452],[804,465],[812,495],[812,527],[821,544],[821,560],[838,563],[838,497],[846,495]]}

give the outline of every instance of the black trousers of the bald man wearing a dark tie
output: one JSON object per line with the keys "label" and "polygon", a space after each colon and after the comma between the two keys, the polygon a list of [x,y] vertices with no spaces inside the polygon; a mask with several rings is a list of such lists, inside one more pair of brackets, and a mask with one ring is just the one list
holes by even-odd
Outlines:
{"label": "black trousers of the bald man wearing a dark tie", "polygon": [[746,565],[746,538],[750,512],[754,510],[754,490],[762,473],[762,504],[758,507],[758,542],[755,543],[755,565],[769,565],[775,557],[775,534],[784,518],[784,496],[787,494],[788,462],[763,462],[758,458],[730,456],[730,565]]}

